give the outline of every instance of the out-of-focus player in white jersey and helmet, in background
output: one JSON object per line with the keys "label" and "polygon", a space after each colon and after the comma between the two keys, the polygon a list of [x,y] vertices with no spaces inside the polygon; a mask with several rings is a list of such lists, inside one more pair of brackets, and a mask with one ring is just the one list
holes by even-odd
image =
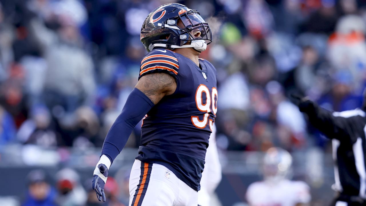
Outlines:
{"label": "out-of-focus player in white jersey and helmet, in background", "polygon": [[303,181],[288,179],[292,164],[290,153],[272,147],[264,156],[264,181],[249,185],[246,198],[250,206],[307,206],[310,188]]}

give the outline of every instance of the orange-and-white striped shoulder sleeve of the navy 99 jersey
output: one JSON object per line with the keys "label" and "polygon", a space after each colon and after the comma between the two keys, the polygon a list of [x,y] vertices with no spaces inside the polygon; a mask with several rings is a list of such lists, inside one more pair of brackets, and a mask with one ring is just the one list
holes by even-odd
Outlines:
{"label": "orange-and-white striped shoulder sleeve of the navy 99 jersey", "polygon": [[165,72],[178,74],[179,63],[173,51],[153,49],[141,60],[140,76],[146,73]]}

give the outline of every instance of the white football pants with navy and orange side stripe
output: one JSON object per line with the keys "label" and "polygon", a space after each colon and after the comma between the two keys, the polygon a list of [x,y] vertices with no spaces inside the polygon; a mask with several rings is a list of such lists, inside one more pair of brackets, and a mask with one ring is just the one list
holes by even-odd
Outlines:
{"label": "white football pants with navy and orange side stripe", "polygon": [[197,206],[198,194],[163,165],[135,160],[129,206]]}

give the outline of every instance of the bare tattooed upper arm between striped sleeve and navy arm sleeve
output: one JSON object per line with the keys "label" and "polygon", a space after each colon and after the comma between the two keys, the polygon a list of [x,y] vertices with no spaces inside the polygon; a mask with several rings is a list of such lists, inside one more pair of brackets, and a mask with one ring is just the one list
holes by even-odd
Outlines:
{"label": "bare tattooed upper arm between striped sleeve and navy arm sleeve", "polygon": [[142,91],[154,104],[157,104],[165,95],[175,92],[177,84],[169,74],[153,73],[140,78],[136,88]]}

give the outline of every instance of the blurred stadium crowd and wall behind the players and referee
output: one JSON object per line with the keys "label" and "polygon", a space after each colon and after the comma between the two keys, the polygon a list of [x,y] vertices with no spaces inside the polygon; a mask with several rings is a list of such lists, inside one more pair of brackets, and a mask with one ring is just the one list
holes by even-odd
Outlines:
{"label": "blurred stadium crowd and wall behind the players and referee", "polygon": [[[312,205],[332,198],[330,141],[287,97],[297,91],[334,111],[361,106],[365,0],[2,0],[0,205],[24,202],[40,170],[54,192],[67,187],[63,176],[78,188],[63,205],[95,200],[91,176],[104,137],[146,54],[141,24],[171,2],[201,12],[215,33],[201,57],[218,71],[216,202],[245,205],[272,146],[291,152],[292,178],[310,185]],[[135,128],[111,168],[106,190],[119,202],[126,203],[138,135]]]}

